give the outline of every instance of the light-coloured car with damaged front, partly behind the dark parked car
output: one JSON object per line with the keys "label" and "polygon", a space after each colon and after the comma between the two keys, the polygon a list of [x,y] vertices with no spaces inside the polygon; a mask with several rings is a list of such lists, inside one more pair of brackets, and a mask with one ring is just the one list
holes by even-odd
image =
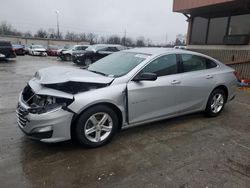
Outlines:
{"label": "light-coloured car with damaged front, partly behind the dark parked car", "polygon": [[67,50],[62,50],[58,56],[63,61],[71,61],[72,60],[72,54],[73,53],[80,53],[85,51],[86,48],[88,48],[89,45],[75,45]]}

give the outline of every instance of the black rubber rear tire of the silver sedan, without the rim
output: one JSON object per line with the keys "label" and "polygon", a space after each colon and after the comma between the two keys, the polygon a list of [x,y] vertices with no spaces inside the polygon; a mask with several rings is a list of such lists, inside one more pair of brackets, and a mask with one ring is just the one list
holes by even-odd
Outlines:
{"label": "black rubber rear tire of the silver sedan, without the rim", "polygon": [[[214,103],[214,98],[216,98],[216,96],[222,96],[223,97],[223,105],[218,109],[218,111],[215,110],[215,108],[212,107],[213,103]],[[224,109],[226,104],[226,95],[225,92],[218,88],[215,89],[209,96],[208,98],[208,102],[207,102],[207,106],[206,106],[206,110],[205,110],[205,115],[208,117],[216,117],[218,116]]]}

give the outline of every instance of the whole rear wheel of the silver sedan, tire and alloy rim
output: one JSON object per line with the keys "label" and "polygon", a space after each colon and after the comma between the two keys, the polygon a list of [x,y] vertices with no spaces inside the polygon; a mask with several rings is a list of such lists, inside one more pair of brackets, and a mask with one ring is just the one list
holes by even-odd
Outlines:
{"label": "whole rear wheel of the silver sedan, tire and alloy rim", "polygon": [[209,96],[205,114],[209,117],[218,116],[223,111],[225,103],[225,92],[222,89],[215,89]]}

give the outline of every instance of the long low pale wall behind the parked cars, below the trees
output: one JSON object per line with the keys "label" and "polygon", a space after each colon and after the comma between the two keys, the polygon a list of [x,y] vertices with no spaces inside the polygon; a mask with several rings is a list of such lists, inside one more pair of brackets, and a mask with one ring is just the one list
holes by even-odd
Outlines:
{"label": "long low pale wall behind the parked cars, below the trees", "polygon": [[53,39],[42,39],[42,38],[24,38],[24,37],[14,37],[14,36],[0,36],[0,40],[10,41],[12,44],[23,44],[23,45],[31,45],[31,44],[39,44],[43,46],[48,45],[57,45],[57,46],[65,46],[65,45],[76,45],[76,44],[89,44],[86,41],[68,41],[68,40],[53,40]]}

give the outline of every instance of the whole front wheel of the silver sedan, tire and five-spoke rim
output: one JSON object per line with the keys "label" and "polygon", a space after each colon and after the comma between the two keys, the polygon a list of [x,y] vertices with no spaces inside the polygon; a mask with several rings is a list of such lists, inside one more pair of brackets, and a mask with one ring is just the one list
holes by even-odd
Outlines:
{"label": "whole front wheel of the silver sedan, tire and five-spoke rim", "polygon": [[75,127],[78,142],[89,148],[108,143],[118,129],[118,118],[114,110],[98,105],[89,108],[80,116]]}

